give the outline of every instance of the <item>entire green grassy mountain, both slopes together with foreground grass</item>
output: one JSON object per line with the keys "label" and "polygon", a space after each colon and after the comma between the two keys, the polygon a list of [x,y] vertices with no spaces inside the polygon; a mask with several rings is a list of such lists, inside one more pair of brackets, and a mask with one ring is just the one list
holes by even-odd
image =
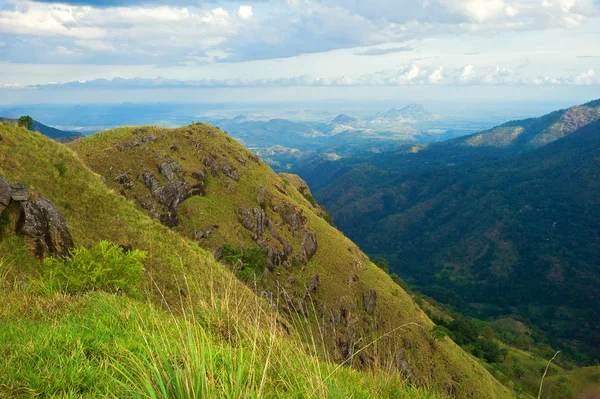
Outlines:
{"label": "entire green grassy mountain, both slopes together with foreground grass", "polygon": [[0,133],[2,395],[512,397],[224,132]]}

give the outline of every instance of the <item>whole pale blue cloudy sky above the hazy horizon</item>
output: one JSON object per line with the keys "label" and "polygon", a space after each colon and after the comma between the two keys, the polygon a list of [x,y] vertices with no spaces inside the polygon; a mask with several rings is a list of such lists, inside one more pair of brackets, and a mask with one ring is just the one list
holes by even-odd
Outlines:
{"label": "whole pale blue cloudy sky above the hazy horizon", "polygon": [[0,0],[0,104],[600,97],[596,0]]}

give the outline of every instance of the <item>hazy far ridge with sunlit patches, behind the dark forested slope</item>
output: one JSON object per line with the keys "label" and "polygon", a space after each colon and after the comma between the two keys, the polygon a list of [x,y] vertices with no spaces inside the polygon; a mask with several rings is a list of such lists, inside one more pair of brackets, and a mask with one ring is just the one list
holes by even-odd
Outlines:
{"label": "hazy far ridge with sunlit patches, behind the dark forested slope", "polygon": [[[297,165],[294,172],[318,193],[355,167],[368,164],[387,172],[412,172],[514,156],[568,136],[598,119],[600,99],[444,142],[407,145],[399,151],[341,160],[315,157]],[[352,188],[360,189],[356,185]]]}

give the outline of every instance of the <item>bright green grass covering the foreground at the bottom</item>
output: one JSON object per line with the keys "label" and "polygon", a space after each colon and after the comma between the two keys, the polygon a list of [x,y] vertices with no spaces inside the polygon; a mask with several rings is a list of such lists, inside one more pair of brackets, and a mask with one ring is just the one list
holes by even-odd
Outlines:
{"label": "bright green grass covering the foreground at the bottom", "polygon": [[0,397],[439,397],[323,363],[282,341],[276,325],[222,331],[219,318],[101,292],[10,290],[0,300]]}

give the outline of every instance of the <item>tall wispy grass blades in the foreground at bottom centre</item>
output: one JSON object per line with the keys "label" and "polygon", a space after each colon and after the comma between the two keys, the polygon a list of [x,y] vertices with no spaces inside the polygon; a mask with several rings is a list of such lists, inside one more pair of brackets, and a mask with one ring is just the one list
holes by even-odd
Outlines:
{"label": "tall wispy grass blades in the foreground at bottom centre", "polygon": [[[233,299],[229,294],[220,297]],[[323,353],[317,348],[322,337],[308,341],[312,348],[298,347],[298,341],[286,339],[277,318],[259,315],[256,305],[257,314],[244,315],[236,312],[235,301],[219,300],[212,303],[213,312],[200,316],[182,303],[181,312],[171,313],[171,322],[158,332],[139,325],[144,350],[113,359],[116,381],[140,399],[436,397],[397,374],[358,372],[319,360],[307,352]]]}

